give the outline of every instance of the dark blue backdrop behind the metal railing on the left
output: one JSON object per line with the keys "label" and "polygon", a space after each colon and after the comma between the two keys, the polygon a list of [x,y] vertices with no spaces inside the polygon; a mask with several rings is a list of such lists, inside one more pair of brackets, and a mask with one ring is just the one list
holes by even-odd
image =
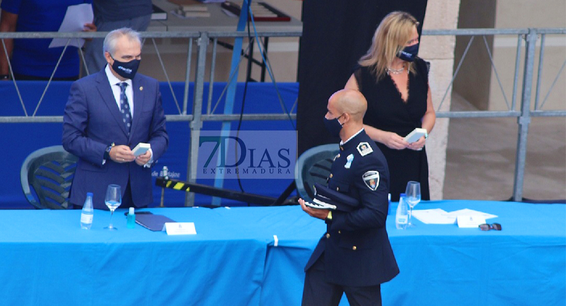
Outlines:
{"label": "dark blue backdrop behind the metal railing on the left", "polygon": [[[44,81],[20,81],[18,87],[22,94],[27,114],[31,115],[36,110],[37,101],[45,89]],[[172,83],[173,92],[179,107],[182,109],[182,97],[184,83]],[[212,107],[220,97],[225,83],[215,83],[213,85]],[[71,82],[52,82],[45,93],[45,97],[37,108],[37,116],[61,116],[65,109],[68,98],[68,90]],[[234,113],[242,109],[244,84],[238,84]],[[280,83],[277,85],[288,110],[293,107],[298,94],[298,83]],[[189,105],[187,113],[192,113],[192,93],[193,84],[190,85]],[[161,94],[165,114],[178,114],[177,105],[173,100],[171,90],[167,83],[161,84]],[[24,116],[22,104],[19,102],[14,84],[11,82],[0,83],[0,97],[2,97],[2,107],[0,116]],[[208,97],[208,84],[204,85],[204,100]],[[205,102],[204,105],[207,103]],[[224,109],[224,99],[221,99],[217,110]],[[254,113],[283,113],[280,102],[278,101],[275,87],[271,83],[249,83],[245,109],[245,114]],[[203,114],[206,113],[206,106],[203,107]],[[216,111],[218,113],[218,111]],[[322,119],[321,119],[322,120]],[[218,131],[221,122],[205,122],[203,130]],[[238,122],[232,122],[231,130],[237,130]],[[291,124],[289,120],[257,120],[244,121],[241,126],[242,131],[294,131],[295,122]],[[3,123],[0,124],[0,144],[3,145],[2,169],[4,169],[4,179],[0,184],[0,208],[32,208],[25,200],[20,183],[20,168],[25,157],[29,153],[44,148],[45,146],[60,145],[62,135],[61,123]],[[169,149],[153,167],[153,176],[159,175],[163,166],[169,169],[170,177],[185,180],[187,178],[188,145],[190,140],[190,128],[188,122],[168,122],[167,131],[169,133]],[[272,141],[277,141],[273,139]],[[294,169],[294,167],[293,167]],[[198,179],[198,183],[213,185],[213,179]],[[241,184],[244,191],[271,197],[279,196],[291,183],[290,179],[242,179]],[[155,186],[155,185],[154,185]],[[224,187],[240,191],[237,179],[225,179]],[[153,189],[153,206],[159,205],[161,198],[161,188]],[[173,189],[165,190],[165,206],[183,206],[185,193]],[[195,205],[209,205],[211,197],[196,195]],[[246,203],[222,200],[222,206],[241,206]]]}

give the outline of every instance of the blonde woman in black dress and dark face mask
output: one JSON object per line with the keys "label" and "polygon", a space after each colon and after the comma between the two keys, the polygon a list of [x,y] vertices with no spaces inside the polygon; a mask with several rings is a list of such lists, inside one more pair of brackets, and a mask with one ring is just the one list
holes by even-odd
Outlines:
{"label": "blonde woman in black dress and dark face mask", "polygon": [[359,90],[367,99],[364,128],[387,160],[392,201],[398,201],[409,180],[420,182],[422,199],[430,200],[424,149],[428,134],[413,143],[404,140],[415,128],[430,133],[436,120],[428,63],[417,57],[417,25],[406,12],[385,16],[345,86]]}

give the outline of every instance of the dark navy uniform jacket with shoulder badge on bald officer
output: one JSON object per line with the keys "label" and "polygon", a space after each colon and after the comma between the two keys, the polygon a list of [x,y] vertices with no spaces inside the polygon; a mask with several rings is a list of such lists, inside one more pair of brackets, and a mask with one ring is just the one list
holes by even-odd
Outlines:
{"label": "dark navy uniform jacket with shoulder badge on bald officer", "polygon": [[389,170],[383,153],[361,131],[332,163],[328,188],[360,202],[353,212],[332,212],[327,232],[307,262],[307,271],[324,253],[326,281],[342,286],[374,286],[399,273],[385,230]]}

